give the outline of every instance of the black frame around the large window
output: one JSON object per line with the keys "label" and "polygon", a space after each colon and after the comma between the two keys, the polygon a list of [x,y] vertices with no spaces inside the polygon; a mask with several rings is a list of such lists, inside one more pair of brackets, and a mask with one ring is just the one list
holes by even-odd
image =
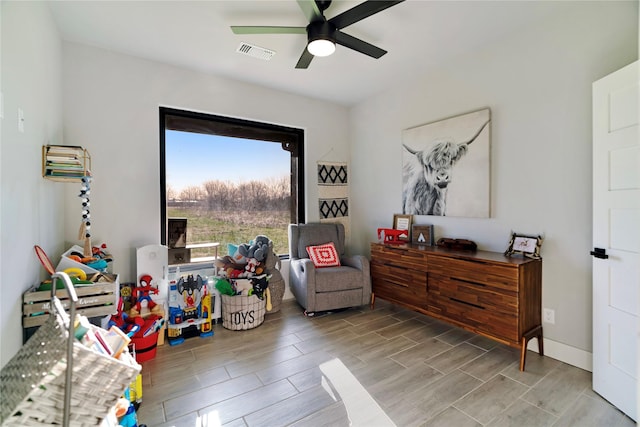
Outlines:
{"label": "black frame around the large window", "polygon": [[159,113],[161,244],[167,244],[167,129],[281,143],[282,149],[291,154],[291,221],[305,222],[303,129],[168,107],[160,107]]}

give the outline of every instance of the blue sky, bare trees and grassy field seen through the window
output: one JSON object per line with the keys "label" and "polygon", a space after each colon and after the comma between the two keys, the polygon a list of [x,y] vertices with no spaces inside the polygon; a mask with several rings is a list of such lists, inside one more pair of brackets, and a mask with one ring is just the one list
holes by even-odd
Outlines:
{"label": "blue sky, bare trees and grassy field seen through the window", "polygon": [[167,217],[187,218],[187,244],[219,242],[223,256],[262,234],[288,253],[291,156],[281,144],[166,130],[165,147]]}

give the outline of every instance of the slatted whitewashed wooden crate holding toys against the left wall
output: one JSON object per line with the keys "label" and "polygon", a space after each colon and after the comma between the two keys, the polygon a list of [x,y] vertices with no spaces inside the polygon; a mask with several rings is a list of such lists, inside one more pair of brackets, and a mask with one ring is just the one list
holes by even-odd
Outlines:
{"label": "slatted whitewashed wooden crate holding toys against the left wall", "polygon": [[[111,282],[96,282],[92,286],[76,287],[78,303],[76,313],[86,317],[102,317],[114,314],[120,296],[120,280],[117,274],[108,274]],[[58,289],[65,310],[69,309],[69,295],[65,289]],[[22,296],[22,327],[40,326],[49,317],[51,309],[51,291],[28,290]]]}

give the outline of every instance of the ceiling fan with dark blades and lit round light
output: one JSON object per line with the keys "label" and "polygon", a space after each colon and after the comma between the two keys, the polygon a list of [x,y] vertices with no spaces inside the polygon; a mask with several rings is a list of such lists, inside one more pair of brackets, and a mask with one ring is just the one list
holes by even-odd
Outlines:
{"label": "ceiling fan with dark blades and lit round light", "polygon": [[296,68],[308,68],[314,56],[331,55],[339,44],[353,49],[372,58],[380,58],[387,53],[370,43],[350,36],[341,30],[371,15],[381,12],[404,0],[380,1],[367,0],[351,9],[327,19],[324,11],[331,5],[331,0],[298,0],[298,5],[307,17],[309,25],[306,27],[274,27],[274,26],[240,26],[233,25],[231,30],[235,34],[307,34],[305,47]]}

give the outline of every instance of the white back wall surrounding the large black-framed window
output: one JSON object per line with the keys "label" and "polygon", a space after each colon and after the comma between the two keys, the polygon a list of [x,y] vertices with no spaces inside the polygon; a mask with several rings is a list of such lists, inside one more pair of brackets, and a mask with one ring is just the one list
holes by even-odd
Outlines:
{"label": "white back wall surrounding the large black-framed window", "polygon": [[[160,239],[159,106],[305,129],[307,218],[318,219],[315,164],[330,150],[332,160],[347,159],[346,108],[77,44],[63,52],[65,139],[91,152],[92,238],[107,243],[121,281],[136,280],[135,248]],[[221,162],[241,168],[242,153],[211,167]],[[67,193],[70,206],[79,206],[77,190]],[[66,217],[68,243],[77,212]]]}

